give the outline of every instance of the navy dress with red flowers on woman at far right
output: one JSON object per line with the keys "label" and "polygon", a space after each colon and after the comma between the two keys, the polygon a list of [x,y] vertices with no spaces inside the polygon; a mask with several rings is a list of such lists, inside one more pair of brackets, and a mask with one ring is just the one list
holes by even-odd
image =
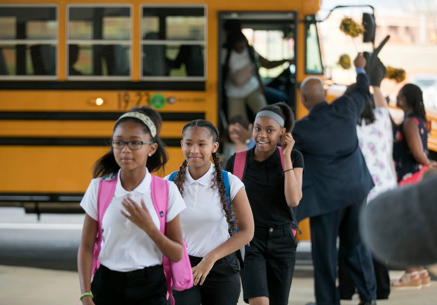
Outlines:
{"label": "navy dress with red flowers on woman at far right", "polygon": [[[428,129],[423,120],[417,113],[410,113],[406,118],[410,118],[416,123],[419,127],[420,138],[422,139],[422,149],[425,154],[429,155],[427,142],[428,142]],[[405,135],[402,130],[402,125],[405,122],[405,119],[402,123],[397,126],[394,130],[394,143],[393,143],[393,160],[395,161],[396,174],[398,176],[398,182],[402,179],[408,178],[413,175],[417,171],[423,167],[423,164],[420,164],[414,159],[413,154],[411,153]]]}

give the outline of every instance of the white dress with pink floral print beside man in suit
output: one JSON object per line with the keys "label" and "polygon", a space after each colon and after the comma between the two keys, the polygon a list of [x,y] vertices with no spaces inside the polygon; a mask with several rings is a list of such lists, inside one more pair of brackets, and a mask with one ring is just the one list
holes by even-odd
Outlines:
{"label": "white dress with pink floral print beside man in suit", "polygon": [[358,145],[375,183],[367,196],[367,202],[397,185],[392,158],[393,130],[390,113],[384,107],[372,111],[375,122],[365,125],[363,120],[361,126],[357,125]]}

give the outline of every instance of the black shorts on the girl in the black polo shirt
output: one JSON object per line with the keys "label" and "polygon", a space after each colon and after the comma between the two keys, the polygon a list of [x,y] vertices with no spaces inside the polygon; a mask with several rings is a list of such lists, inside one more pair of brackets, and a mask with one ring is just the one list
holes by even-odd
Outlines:
{"label": "black shorts on the girl in the black polo shirt", "polygon": [[287,305],[296,263],[297,240],[291,224],[258,228],[246,245],[243,284],[244,302],[268,297],[270,304]]}

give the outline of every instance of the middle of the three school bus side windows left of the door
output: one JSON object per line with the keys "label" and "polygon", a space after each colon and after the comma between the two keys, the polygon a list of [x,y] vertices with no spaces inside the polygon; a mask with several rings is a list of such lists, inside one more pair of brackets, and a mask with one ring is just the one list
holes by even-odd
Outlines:
{"label": "middle of the three school bus side windows left of the door", "polygon": [[69,79],[129,79],[130,7],[68,8]]}

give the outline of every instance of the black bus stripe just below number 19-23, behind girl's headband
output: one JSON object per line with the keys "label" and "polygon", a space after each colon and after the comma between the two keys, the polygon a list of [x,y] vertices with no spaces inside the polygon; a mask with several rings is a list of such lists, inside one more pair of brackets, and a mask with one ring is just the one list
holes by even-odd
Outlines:
{"label": "black bus stripe just below number 19-23, behind girl's headband", "polygon": [[[115,121],[124,112],[60,112],[60,111],[3,111],[0,120],[73,120]],[[192,121],[205,119],[205,113],[161,112],[164,121]]]}

